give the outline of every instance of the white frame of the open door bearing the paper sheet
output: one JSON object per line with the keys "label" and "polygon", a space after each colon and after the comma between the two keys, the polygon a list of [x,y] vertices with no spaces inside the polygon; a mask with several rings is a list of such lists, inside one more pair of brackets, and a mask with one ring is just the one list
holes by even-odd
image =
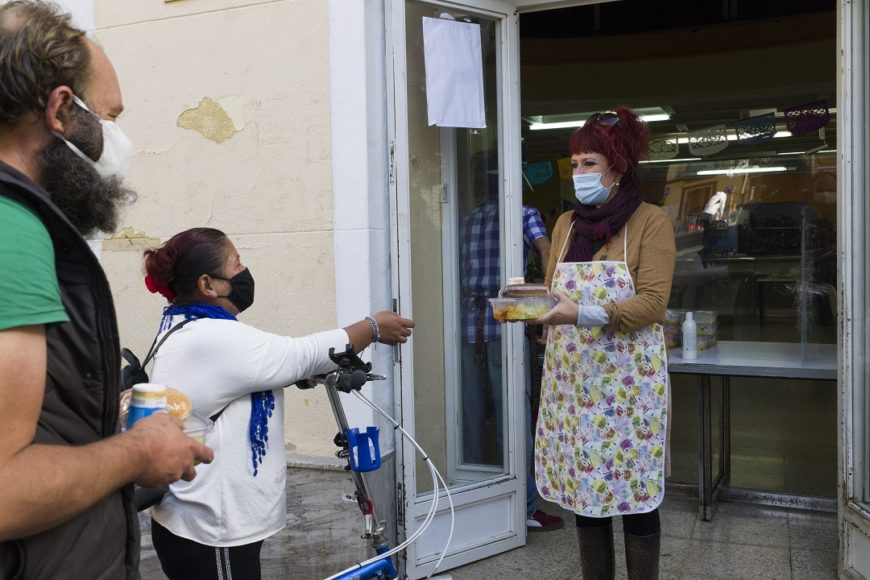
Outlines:
{"label": "white frame of the open door bearing the paper sheet", "polygon": [[[433,6],[443,6],[445,11],[462,11],[499,20],[498,42],[501,44],[498,63],[499,87],[499,143],[501,166],[515,167],[503,174],[503,215],[516,215],[515,220],[502,219],[503,246],[507,249],[505,275],[522,272],[522,231],[520,228],[522,189],[520,167],[520,117],[519,117],[519,37],[518,16],[513,4],[502,0],[466,0],[460,2],[427,0]],[[390,135],[390,196],[394,287],[399,296],[399,311],[413,317],[413,297],[410,292],[410,168],[408,142],[407,75],[405,57],[405,0],[386,2],[387,26],[387,83],[388,125]],[[445,186],[449,186],[445,183]],[[506,423],[512,427],[506,439],[509,462],[506,475],[469,484],[451,491],[457,512],[457,527],[454,546],[448,551],[440,569],[446,570],[509,550],[525,543],[525,481],[517,478],[517,472],[525,456],[525,437],[522,426],[525,390],[522,328],[510,325],[503,335],[505,355],[503,361],[504,385],[508,393]],[[414,337],[411,338],[411,345]],[[396,409],[403,426],[414,432],[414,381],[413,348],[402,349],[402,361],[397,372]],[[519,427],[516,427],[519,426]],[[432,494],[416,497],[417,489],[415,450],[412,446],[397,441],[397,483],[400,486],[400,536],[408,537],[425,516],[432,501]],[[438,466],[445,471],[446,466]],[[473,522],[472,525],[462,520]],[[447,538],[450,513],[447,501],[441,496],[438,515],[417,543],[409,547],[403,562],[405,572],[411,578],[428,574],[438,559]]]}

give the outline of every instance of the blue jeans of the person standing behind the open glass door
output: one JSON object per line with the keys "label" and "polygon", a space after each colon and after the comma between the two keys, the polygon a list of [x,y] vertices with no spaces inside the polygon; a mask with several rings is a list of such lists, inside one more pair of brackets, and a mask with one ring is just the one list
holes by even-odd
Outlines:
{"label": "blue jeans of the person standing behind the open glass door", "polygon": [[[531,430],[532,361],[529,343],[524,340],[526,357],[524,425],[526,433],[526,513],[531,516],[537,509],[538,489],[535,485],[534,437]],[[487,395],[492,401],[496,432],[496,456],[504,449],[504,398],[502,397],[501,340],[491,340],[481,346],[478,353],[474,344],[463,343],[462,367],[462,460],[464,463],[485,463],[484,440],[486,437]],[[484,368],[485,364],[485,368]],[[522,474],[520,474],[522,477]]]}

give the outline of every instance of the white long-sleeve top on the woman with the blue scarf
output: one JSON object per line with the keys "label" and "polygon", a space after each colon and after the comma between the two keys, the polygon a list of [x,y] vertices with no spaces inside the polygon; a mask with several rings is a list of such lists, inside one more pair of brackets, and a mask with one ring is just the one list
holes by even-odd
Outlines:
{"label": "white long-sleeve top on the woman with the blue scarf", "polygon": [[[173,317],[172,326],[183,319]],[[186,394],[198,415],[223,413],[205,442],[214,461],[198,465],[193,481],[172,484],[151,517],[177,536],[218,547],[250,544],[281,530],[287,505],[283,387],[335,368],[329,349],[344,351],[348,342],[341,329],[290,338],[209,318],[170,336],[154,357],[151,381]],[[250,393],[265,390],[273,390],[275,410],[255,477]]]}

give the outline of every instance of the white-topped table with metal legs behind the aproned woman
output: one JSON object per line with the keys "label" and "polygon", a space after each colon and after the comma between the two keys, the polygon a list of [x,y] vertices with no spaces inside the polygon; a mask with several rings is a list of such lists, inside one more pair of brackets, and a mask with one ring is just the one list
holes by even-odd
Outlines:
{"label": "white-topped table with metal legs behind the aproned woman", "polygon": [[[698,375],[699,509],[701,519],[710,521],[720,484],[731,471],[731,385],[730,377],[775,377],[783,379],[837,379],[837,345],[789,342],[721,341],[716,348],[698,353],[695,361],[682,359],[682,351],[668,353],[671,374]],[[712,405],[710,377],[722,377],[722,437],[719,473],[713,474]]]}

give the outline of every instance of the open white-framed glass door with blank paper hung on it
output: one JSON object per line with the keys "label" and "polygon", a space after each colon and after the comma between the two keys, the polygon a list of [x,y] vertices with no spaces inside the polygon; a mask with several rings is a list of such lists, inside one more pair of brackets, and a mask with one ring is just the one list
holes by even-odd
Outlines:
{"label": "open white-framed glass door with blank paper hung on it", "polygon": [[[528,411],[517,380],[524,376],[524,338],[518,325],[496,323],[488,309],[507,276],[521,270],[517,20],[512,6],[484,0],[393,0],[388,12],[394,263],[401,311],[417,322],[398,396],[405,428],[452,495],[455,526],[443,570],[525,542]],[[428,124],[425,18],[479,30],[485,128]],[[419,454],[400,448],[400,520],[409,537],[435,494]],[[428,533],[407,552],[410,577],[432,570],[450,523],[442,493]]]}

